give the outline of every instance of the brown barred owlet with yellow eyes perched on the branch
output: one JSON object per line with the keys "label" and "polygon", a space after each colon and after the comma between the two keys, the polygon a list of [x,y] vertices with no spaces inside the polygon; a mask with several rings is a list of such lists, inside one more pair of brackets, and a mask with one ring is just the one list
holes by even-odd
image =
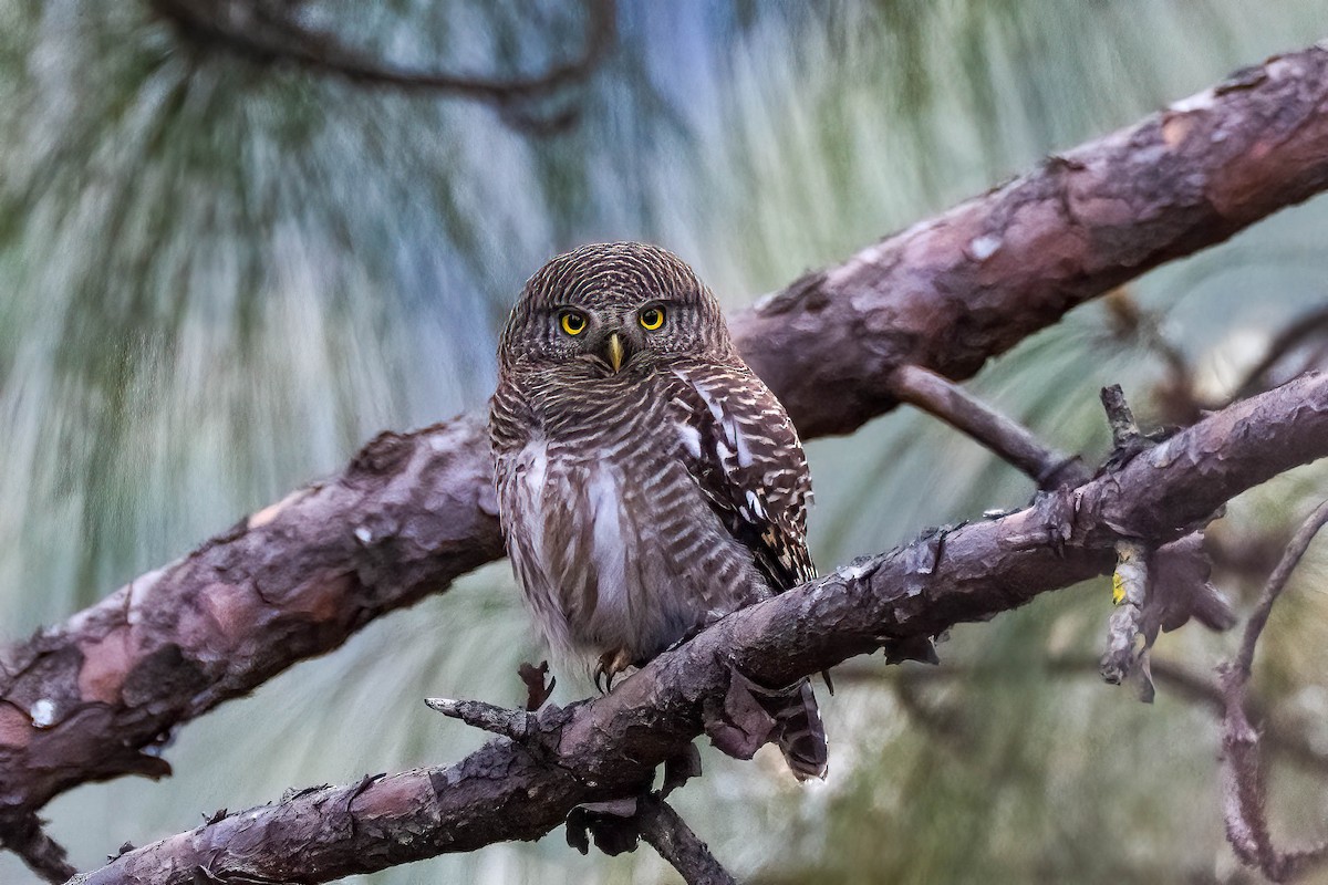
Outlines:
{"label": "brown barred owlet with yellow eyes perched on the branch", "polygon": [[[798,435],[679,257],[640,243],[555,257],[498,358],[498,510],[555,650],[612,677],[814,576]],[[789,767],[825,776],[811,686],[774,703]]]}

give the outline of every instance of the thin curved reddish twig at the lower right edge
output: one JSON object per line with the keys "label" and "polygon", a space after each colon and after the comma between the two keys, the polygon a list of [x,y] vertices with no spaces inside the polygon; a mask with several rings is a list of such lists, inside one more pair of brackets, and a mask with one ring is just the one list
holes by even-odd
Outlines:
{"label": "thin curved reddish twig at the lower right edge", "polygon": [[1223,718],[1223,817],[1227,828],[1227,841],[1236,856],[1248,866],[1260,870],[1275,882],[1284,882],[1299,876],[1311,865],[1328,860],[1328,843],[1307,851],[1283,852],[1272,843],[1268,831],[1267,784],[1259,764],[1259,732],[1250,722],[1246,711],[1250,675],[1254,665],[1255,647],[1268,614],[1286,588],[1291,573],[1309,548],[1319,529],[1328,523],[1328,502],[1320,504],[1305,519],[1282,561],[1268,576],[1259,604],[1246,624],[1244,637],[1236,657],[1220,669],[1222,689],[1226,701]]}

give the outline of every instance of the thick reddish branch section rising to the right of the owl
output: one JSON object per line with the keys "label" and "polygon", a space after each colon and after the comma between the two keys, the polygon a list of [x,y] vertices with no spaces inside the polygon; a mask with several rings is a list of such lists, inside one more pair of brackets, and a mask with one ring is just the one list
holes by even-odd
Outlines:
{"label": "thick reddish branch section rising to the right of the owl", "polygon": [[803,277],[736,321],[744,357],[799,433],[854,430],[894,405],[899,366],[968,378],[1073,306],[1321,191],[1325,103],[1328,48],[1272,58]]}

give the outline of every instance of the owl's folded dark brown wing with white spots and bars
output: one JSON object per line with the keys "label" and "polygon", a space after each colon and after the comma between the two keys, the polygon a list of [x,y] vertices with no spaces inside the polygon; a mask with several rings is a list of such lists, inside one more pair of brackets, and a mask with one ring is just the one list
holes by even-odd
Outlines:
{"label": "owl's folded dark brown wing with white spots and bars", "polygon": [[807,552],[811,478],[798,434],[745,366],[676,369],[679,435],[706,500],[776,590],[815,577]]}

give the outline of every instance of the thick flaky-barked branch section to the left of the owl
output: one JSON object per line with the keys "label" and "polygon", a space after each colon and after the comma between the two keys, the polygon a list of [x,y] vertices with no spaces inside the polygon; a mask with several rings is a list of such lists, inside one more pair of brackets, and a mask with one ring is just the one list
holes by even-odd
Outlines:
{"label": "thick flaky-barked branch section to the left of the owl", "polygon": [[[0,809],[170,772],[181,722],[502,555],[486,435],[382,434],[303,488],[0,655]],[[0,813],[0,821],[7,821]]]}

